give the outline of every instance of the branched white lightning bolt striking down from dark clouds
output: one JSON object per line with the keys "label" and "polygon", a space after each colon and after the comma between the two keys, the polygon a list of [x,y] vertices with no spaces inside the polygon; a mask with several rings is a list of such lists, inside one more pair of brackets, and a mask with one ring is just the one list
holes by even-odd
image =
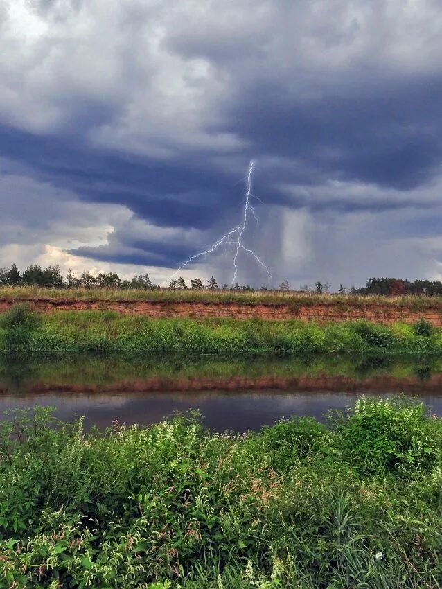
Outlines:
{"label": "branched white lightning bolt striking down from dark clouds", "polygon": [[[242,243],[242,234],[244,234],[244,231],[247,227],[248,213],[251,213],[251,215],[256,220],[257,224],[259,223],[258,217],[256,216],[256,211],[254,209],[254,206],[252,206],[250,204],[251,198],[258,199],[258,197],[254,196],[254,194],[251,191],[251,177],[253,175],[253,170],[254,170],[254,161],[251,160],[251,162],[249,164],[249,172],[247,173],[247,193],[245,195],[245,205],[244,205],[242,223],[240,225],[238,225],[238,227],[235,227],[235,229],[232,229],[231,231],[229,231],[229,233],[223,235],[222,238],[218,239],[218,241],[216,241],[213,245],[211,245],[211,247],[209,247],[209,249],[206,249],[204,252],[200,252],[199,254],[195,254],[194,256],[191,256],[190,258],[188,258],[188,260],[186,260],[184,263],[182,263],[182,265],[179,266],[177,268],[177,270],[175,270],[175,272],[172,274],[172,276],[170,276],[168,281],[174,279],[180,270],[183,270],[188,264],[192,263],[197,258],[200,258],[201,256],[206,256],[207,254],[211,254],[212,252],[215,251],[215,249],[217,249],[217,247],[220,247],[220,245],[228,245],[228,244],[236,246],[235,255],[233,256],[234,272],[233,272],[233,279],[231,281],[232,284],[236,281],[236,275],[238,274],[238,266],[236,265],[236,263],[238,261],[238,254],[240,253],[240,250],[243,250],[247,254],[250,254],[251,256],[253,256],[255,258],[256,262],[261,267],[263,267],[264,270],[267,272],[269,279],[272,279],[272,274],[270,274],[270,271],[269,271],[268,267],[265,265],[265,263],[263,263],[263,261],[260,260],[260,258],[258,258],[258,256],[255,254],[253,249],[249,249],[248,247],[245,247],[245,245]],[[236,236],[236,239],[233,241],[230,241],[229,239],[233,235]],[[165,281],[164,283],[166,283],[166,282],[167,281]]]}

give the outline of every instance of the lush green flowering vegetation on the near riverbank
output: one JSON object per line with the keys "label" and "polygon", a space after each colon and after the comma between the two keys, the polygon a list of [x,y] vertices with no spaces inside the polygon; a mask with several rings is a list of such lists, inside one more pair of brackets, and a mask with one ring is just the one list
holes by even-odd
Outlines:
{"label": "lush green flowering vegetation on the near riverbank", "polygon": [[440,588],[441,515],[442,420],[409,401],[242,436],[0,425],[5,588]]}

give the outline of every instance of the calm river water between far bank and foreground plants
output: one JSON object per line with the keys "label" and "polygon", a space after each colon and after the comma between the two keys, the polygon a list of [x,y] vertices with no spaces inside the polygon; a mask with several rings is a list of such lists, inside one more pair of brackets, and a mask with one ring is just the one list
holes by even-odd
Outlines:
{"label": "calm river water between far bank and foreground plants", "polygon": [[258,430],[282,417],[346,410],[358,396],[417,395],[442,415],[442,361],[385,358],[218,357],[130,358],[71,356],[0,360],[3,411],[56,407],[87,428],[154,423],[173,412],[198,410],[205,425]]}

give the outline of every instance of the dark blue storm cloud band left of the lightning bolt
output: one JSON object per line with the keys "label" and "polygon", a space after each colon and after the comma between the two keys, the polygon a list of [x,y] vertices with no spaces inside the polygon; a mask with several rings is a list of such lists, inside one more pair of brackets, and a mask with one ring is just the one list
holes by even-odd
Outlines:
{"label": "dark blue storm cloud band left of the lightning bolt", "polygon": [[160,226],[210,227],[241,198],[234,179],[219,170],[103,153],[69,135],[41,137],[3,125],[0,156],[82,200],[124,204]]}

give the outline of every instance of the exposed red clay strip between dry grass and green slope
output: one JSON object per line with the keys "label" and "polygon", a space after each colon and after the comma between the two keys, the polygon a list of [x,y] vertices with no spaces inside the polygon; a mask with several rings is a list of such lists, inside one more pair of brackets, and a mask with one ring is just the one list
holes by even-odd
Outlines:
{"label": "exposed red clay strip between dry grass and green slope", "polygon": [[[0,299],[0,313],[8,310],[18,299]],[[148,317],[229,317],[231,319],[302,319],[303,321],[344,321],[367,319],[380,323],[403,321],[413,323],[427,319],[434,326],[442,326],[442,307],[434,306],[425,310],[411,310],[402,305],[394,306],[369,304],[320,303],[308,305],[281,304],[238,304],[213,302],[165,302],[165,301],[78,301],[69,299],[27,300],[30,308],[40,313],[57,310],[115,310],[118,313],[136,313]]]}

